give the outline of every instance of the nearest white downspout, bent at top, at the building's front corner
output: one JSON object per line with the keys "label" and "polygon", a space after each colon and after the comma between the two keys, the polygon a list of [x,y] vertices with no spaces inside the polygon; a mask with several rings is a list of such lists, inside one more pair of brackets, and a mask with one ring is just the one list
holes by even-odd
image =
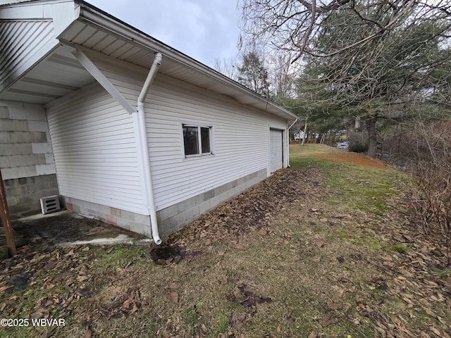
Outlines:
{"label": "nearest white downspout, bent at top, at the building's front corner", "polygon": [[142,163],[144,165],[144,190],[147,197],[146,207],[149,209],[150,223],[152,227],[152,238],[155,244],[161,244],[160,235],[158,232],[158,223],[156,220],[155,200],[154,200],[154,186],[152,185],[152,172],[150,170],[150,158],[149,158],[149,144],[147,143],[147,130],[146,130],[146,118],[144,113],[144,100],[146,99],[149,87],[154,81],[156,72],[161,64],[161,54],[156,53],[154,63],[149,70],[144,86],[141,89],[140,96],[137,101],[137,123],[141,145]]}

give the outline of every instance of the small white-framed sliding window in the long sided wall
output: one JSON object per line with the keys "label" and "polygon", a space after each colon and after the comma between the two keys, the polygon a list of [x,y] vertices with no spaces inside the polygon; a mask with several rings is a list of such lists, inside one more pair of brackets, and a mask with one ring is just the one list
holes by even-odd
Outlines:
{"label": "small white-framed sliding window in the long sided wall", "polygon": [[213,154],[213,126],[182,124],[185,157]]}

